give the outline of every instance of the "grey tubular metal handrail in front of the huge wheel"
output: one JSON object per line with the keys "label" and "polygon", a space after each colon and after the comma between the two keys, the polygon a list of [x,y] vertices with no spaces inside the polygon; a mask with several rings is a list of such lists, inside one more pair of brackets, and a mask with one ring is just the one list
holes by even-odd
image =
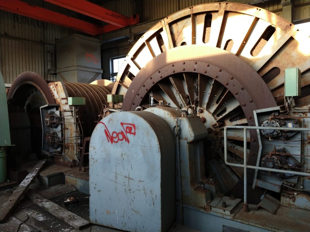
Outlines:
{"label": "grey tubular metal handrail in front of the huge wheel", "polygon": [[[229,163],[227,159],[227,129],[243,129],[243,164],[236,164],[236,163]],[[247,204],[247,174],[246,169],[257,169],[257,170],[263,170],[263,171],[270,171],[270,172],[279,172],[279,173],[286,173],[286,174],[294,174],[294,175],[300,175],[300,176],[310,176],[310,173],[305,172],[296,172],[296,171],[290,171],[290,170],[282,170],[282,169],[273,169],[273,168],[264,168],[259,166],[252,166],[246,164],[246,158],[247,158],[247,130],[266,130],[266,127],[254,127],[254,126],[226,126],[224,127],[224,157],[225,157],[225,163],[230,166],[236,166],[236,167],[243,167],[243,178],[244,178],[244,210],[248,210],[248,204]],[[288,127],[277,127],[277,130],[279,131],[310,131],[310,128],[288,128]]]}

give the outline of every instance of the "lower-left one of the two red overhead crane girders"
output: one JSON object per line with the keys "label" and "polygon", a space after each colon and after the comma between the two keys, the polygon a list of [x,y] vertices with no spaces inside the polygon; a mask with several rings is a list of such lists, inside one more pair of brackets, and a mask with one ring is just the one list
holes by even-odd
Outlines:
{"label": "lower-left one of the two red overhead crane girders", "polygon": [[[66,28],[72,28],[90,35],[99,35],[104,29],[95,24],[91,24],[80,19],[75,19],[73,17],[69,17],[55,11],[50,11],[39,6],[34,6],[19,0],[0,0],[0,9],[48,23],[57,24]],[[108,32],[112,29],[113,28],[109,27],[104,31]],[[114,29],[117,29],[117,27]]]}

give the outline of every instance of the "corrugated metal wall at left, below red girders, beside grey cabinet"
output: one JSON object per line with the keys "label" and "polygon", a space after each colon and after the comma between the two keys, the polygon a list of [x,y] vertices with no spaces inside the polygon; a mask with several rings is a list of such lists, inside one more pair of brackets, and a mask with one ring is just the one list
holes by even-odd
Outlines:
{"label": "corrugated metal wall at left, below red girders, beside grey cabinet", "polygon": [[12,83],[24,71],[33,71],[47,80],[47,51],[54,48],[56,38],[62,38],[74,30],[54,24],[0,11],[0,60],[5,83]]}

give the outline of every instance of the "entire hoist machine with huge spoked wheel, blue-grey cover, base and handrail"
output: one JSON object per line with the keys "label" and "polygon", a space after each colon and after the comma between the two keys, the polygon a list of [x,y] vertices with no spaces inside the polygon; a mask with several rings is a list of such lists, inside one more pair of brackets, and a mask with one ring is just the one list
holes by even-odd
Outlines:
{"label": "entire hoist machine with huge spoked wheel, blue-grey cover, base and handrail", "polygon": [[113,85],[121,109],[91,136],[90,220],[308,231],[309,44],[278,15],[226,2],[148,30]]}

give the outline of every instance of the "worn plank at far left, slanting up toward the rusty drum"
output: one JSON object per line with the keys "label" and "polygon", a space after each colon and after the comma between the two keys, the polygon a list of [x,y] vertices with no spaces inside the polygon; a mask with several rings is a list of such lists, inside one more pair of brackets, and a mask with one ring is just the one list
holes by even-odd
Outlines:
{"label": "worn plank at far left, slanting up toward the rusty drum", "polygon": [[0,208],[0,223],[3,223],[7,216],[11,213],[17,202],[20,200],[21,196],[28,189],[33,178],[38,174],[43,165],[45,164],[45,160],[40,160],[33,168],[31,172],[24,178],[24,180],[20,183],[20,185],[15,189],[12,195],[9,197],[8,201],[2,205]]}

